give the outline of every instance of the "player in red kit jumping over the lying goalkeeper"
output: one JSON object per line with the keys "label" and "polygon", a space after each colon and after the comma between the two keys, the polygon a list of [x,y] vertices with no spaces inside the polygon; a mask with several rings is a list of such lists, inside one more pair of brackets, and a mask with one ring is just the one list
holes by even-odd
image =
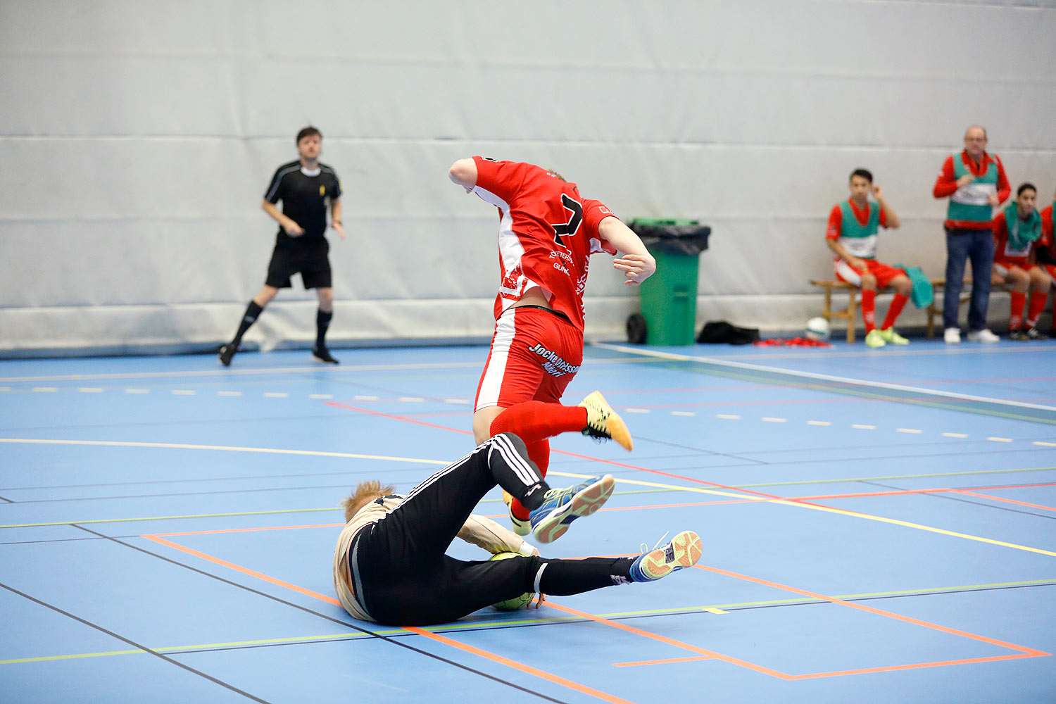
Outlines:
{"label": "player in red kit jumping over the lying goalkeeper", "polygon": [[[630,433],[598,392],[576,406],[561,396],[583,362],[583,289],[590,254],[617,251],[614,268],[637,286],[656,271],[645,245],[601,202],[584,198],[560,174],[520,161],[474,156],[455,161],[451,180],[498,209],[495,332],[477,385],[473,436],[478,443],[516,433],[545,476],[548,438],[578,431],[615,439],[630,450]],[[595,491],[600,479],[570,488]],[[520,535],[532,532],[531,513],[509,497]],[[568,521],[577,516],[569,515]]]}

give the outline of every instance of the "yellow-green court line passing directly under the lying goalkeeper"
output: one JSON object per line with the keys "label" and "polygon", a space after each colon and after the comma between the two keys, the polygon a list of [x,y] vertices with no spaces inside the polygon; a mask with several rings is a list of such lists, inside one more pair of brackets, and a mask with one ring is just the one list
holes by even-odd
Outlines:
{"label": "yellow-green court line passing directly under the lying goalkeeper", "polygon": [[[1031,585],[1043,585],[1056,583],[1056,579],[1029,579],[1026,582],[1004,582],[998,584],[988,585],[967,585],[963,587],[936,587],[934,589],[905,589],[901,591],[883,591],[883,592],[872,592],[867,594],[841,594],[833,596],[833,598],[838,598],[843,601],[851,601],[855,598],[870,598],[878,596],[904,596],[907,594],[930,594],[935,592],[959,592],[959,591],[970,591],[973,589],[995,589],[999,587],[1027,587]],[[799,604],[804,603],[803,598],[778,598],[771,600],[767,602],[739,602],[736,604],[714,604],[711,606],[692,606],[692,607],[680,607],[675,609],[650,609],[647,611],[624,611],[621,613],[603,613],[598,614],[602,619],[622,619],[630,616],[653,616],[653,615],[665,615],[675,613],[685,613],[686,611],[706,611],[708,609],[743,609],[750,607],[758,606],[780,606],[787,604]],[[582,621],[579,616],[558,616],[553,619],[532,619],[532,620],[521,620],[521,621],[495,621],[488,624],[482,624],[478,627],[467,626],[466,624],[447,624],[444,626],[432,626],[426,630],[430,632],[437,631],[475,631],[475,630],[487,630],[495,627],[510,627],[510,626],[539,626],[545,624],[557,624],[563,622],[576,622]],[[250,647],[250,646],[261,646],[261,645],[294,645],[297,643],[326,643],[328,641],[353,641],[362,640],[367,638],[374,638],[375,635],[408,635],[411,634],[410,631],[402,628],[393,628],[381,631],[373,632],[362,632],[362,631],[350,631],[344,633],[328,633],[322,635],[295,635],[290,638],[274,638],[264,639],[259,641],[232,641],[230,643],[204,643],[201,645],[181,645],[181,646],[166,646],[161,648],[152,648],[155,652],[180,652],[189,650],[219,650],[223,648],[240,648],[240,647]],[[41,663],[55,660],[77,660],[81,658],[109,658],[111,655],[134,655],[139,653],[145,653],[146,650],[105,650],[100,652],[77,652],[70,653],[65,655],[40,655],[37,658],[15,658],[12,660],[0,660],[0,665],[18,665],[23,663]]]}

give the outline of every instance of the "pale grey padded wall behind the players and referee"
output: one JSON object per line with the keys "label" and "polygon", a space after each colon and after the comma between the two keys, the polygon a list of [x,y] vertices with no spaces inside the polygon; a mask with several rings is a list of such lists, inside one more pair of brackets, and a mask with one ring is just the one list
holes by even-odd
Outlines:
{"label": "pale grey padded wall behind the players and referee", "polygon": [[[969,123],[1049,202],[1054,37],[1053,2],[4,0],[0,350],[228,338],[308,121],[345,189],[336,340],[490,334],[495,216],[446,173],[471,154],[624,218],[699,217],[698,320],[798,328],[853,168],[903,221],[881,259],[934,275],[931,186]],[[310,339],[314,301],[284,291],[247,340]],[[636,307],[596,258],[588,337]]]}

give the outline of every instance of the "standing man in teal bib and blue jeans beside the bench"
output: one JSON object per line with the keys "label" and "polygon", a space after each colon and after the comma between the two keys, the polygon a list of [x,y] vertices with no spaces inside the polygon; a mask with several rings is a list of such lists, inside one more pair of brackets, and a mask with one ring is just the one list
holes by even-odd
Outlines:
{"label": "standing man in teal bib and blue jeans beside the bench", "polygon": [[964,265],[972,258],[972,301],[968,304],[968,340],[997,342],[986,329],[989,305],[991,269],[994,264],[994,235],[991,218],[994,207],[1008,197],[1012,187],[997,154],[986,151],[986,130],[973,125],[964,132],[964,150],[943,161],[932,194],[949,198],[946,206],[946,287],[942,323],[947,344],[961,341],[957,325],[960,312]]}

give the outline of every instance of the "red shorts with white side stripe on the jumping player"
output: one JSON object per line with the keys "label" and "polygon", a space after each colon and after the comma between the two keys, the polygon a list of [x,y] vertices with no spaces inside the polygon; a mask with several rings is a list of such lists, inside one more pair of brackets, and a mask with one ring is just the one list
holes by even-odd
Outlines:
{"label": "red shorts with white side stripe on the jumping player", "polygon": [[473,411],[561,401],[583,363],[583,332],[545,308],[507,308],[495,321]]}

